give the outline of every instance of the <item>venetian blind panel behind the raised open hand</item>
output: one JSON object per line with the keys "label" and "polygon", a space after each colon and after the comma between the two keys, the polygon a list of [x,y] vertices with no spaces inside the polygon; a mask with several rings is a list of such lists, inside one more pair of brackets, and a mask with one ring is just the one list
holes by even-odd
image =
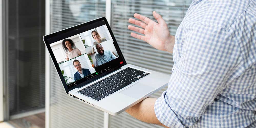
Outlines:
{"label": "venetian blind panel behind the raised open hand", "polygon": [[[173,66],[172,55],[159,51],[147,44],[130,36],[127,29],[128,19],[133,17],[134,13],[139,13],[154,19],[152,12],[156,11],[162,15],[166,21],[170,33],[175,35],[176,30],[184,18],[191,0],[112,0],[111,1],[111,27],[115,38],[121,48],[127,63],[151,69],[154,71],[171,74]],[[155,20],[155,22],[157,22]],[[158,98],[166,88],[153,94],[151,97]],[[110,128],[144,128],[144,127],[161,127],[147,124],[131,117],[127,113],[121,113],[117,116],[110,116]]]}

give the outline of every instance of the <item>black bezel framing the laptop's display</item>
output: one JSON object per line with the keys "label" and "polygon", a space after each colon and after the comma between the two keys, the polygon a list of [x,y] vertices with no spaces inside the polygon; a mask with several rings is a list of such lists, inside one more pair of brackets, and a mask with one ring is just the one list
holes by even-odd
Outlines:
{"label": "black bezel framing the laptop's display", "polygon": [[[106,71],[106,72],[103,72],[102,74],[97,75],[96,77],[93,77],[93,78],[91,78],[91,79],[89,79],[89,80],[86,80],[86,81],[84,81],[84,82],[81,82],[81,83],[79,83],[79,84],[77,84],[77,85],[75,85],[75,86],[73,86],[73,87],[71,87],[71,88],[68,88],[68,86],[67,86],[67,84],[66,84],[66,82],[65,82],[65,79],[64,79],[64,77],[63,77],[63,75],[62,75],[62,73],[61,73],[61,70],[60,70],[60,68],[59,68],[58,62],[57,62],[57,60],[56,60],[56,58],[55,58],[55,56],[54,56],[54,54],[53,54],[53,52],[52,52],[52,49],[51,49],[50,44],[49,44],[49,42],[48,42],[48,39],[53,38],[53,37],[56,37],[56,36],[59,36],[59,35],[64,34],[64,33],[67,33],[67,32],[69,32],[69,31],[77,30],[77,29],[79,29],[79,28],[81,28],[81,27],[88,26],[88,25],[93,24],[93,23],[96,23],[96,22],[100,22],[100,21],[102,21],[102,20],[104,20],[104,22],[105,22],[105,24],[106,24],[106,26],[107,26],[107,28],[108,28],[108,30],[109,30],[109,33],[110,33],[110,35],[111,35],[111,37],[112,37],[112,39],[113,39],[114,46],[116,47],[116,51],[117,51],[118,53],[120,53],[119,58],[121,58],[121,61],[123,61],[123,63],[120,64],[119,66],[115,67],[115,68],[112,68],[111,70],[108,70],[108,71]],[[74,34],[74,35],[76,35],[76,34]],[[66,91],[67,94],[68,94],[69,91],[71,91],[71,90],[73,90],[73,89],[75,89],[75,88],[80,88],[81,86],[84,86],[84,85],[86,85],[86,84],[88,84],[88,83],[90,83],[90,82],[92,82],[92,81],[95,81],[95,80],[97,80],[97,79],[99,79],[99,78],[101,78],[101,77],[103,77],[103,76],[105,76],[105,75],[107,75],[107,74],[113,72],[114,70],[117,70],[117,69],[119,69],[119,68],[121,68],[122,66],[124,66],[124,65],[127,64],[126,61],[125,61],[125,59],[124,59],[124,56],[123,56],[123,54],[122,54],[122,52],[121,52],[121,50],[120,50],[120,48],[119,48],[119,46],[118,46],[118,43],[117,43],[117,41],[116,41],[116,39],[115,39],[115,37],[114,37],[114,34],[113,34],[113,32],[112,32],[112,30],[111,30],[109,24],[108,24],[108,21],[106,20],[105,17],[101,17],[101,18],[98,18],[98,19],[95,19],[95,20],[91,20],[91,21],[89,21],[89,22],[85,22],[85,23],[82,23],[82,24],[79,24],[79,25],[76,25],[76,26],[73,26],[73,27],[70,27],[70,28],[66,28],[66,29],[57,31],[57,32],[55,32],[55,33],[51,33],[51,34],[49,34],[49,35],[45,35],[45,36],[43,37],[43,40],[44,40],[45,45],[46,45],[46,47],[47,47],[47,49],[48,49],[48,51],[49,51],[49,54],[50,54],[51,59],[52,59],[52,62],[54,63],[55,69],[56,69],[56,71],[57,71],[57,73],[58,73],[58,75],[59,75],[59,78],[60,78],[60,80],[61,80],[61,82],[62,82],[62,85],[63,85],[63,87],[64,87],[64,89],[65,89],[65,91]],[[113,61],[113,60],[112,60],[112,61]],[[82,79],[83,79],[83,78],[82,78]],[[85,80],[85,78],[84,78],[84,80]]]}

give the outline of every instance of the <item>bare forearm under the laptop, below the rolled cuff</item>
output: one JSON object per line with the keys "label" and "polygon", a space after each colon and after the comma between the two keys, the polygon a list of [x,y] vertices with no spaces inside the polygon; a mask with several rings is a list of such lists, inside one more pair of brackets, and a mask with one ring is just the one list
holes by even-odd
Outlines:
{"label": "bare forearm under the laptop, below the rolled cuff", "polygon": [[146,98],[140,103],[137,103],[136,105],[127,109],[126,112],[140,121],[164,126],[156,118],[155,111],[154,111],[155,101],[156,101],[156,98]]}

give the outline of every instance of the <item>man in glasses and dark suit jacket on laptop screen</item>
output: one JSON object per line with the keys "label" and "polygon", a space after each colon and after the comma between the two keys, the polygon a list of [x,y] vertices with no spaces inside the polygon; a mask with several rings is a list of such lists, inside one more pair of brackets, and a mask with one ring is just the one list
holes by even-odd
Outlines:
{"label": "man in glasses and dark suit jacket on laptop screen", "polygon": [[88,76],[91,74],[89,69],[87,68],[82,68],[79,60],[74,60],[73,61],[73,66],[77,69],[77,72],[74,74],[74,80],[77,81],[81,78],[84,78],[85,76]]}

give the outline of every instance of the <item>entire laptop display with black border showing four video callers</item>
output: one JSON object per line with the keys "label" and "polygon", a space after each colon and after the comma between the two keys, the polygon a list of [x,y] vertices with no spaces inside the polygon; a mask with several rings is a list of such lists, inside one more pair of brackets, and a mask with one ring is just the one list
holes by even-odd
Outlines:
{"label": "entire laptop display with black border showing four video callers", "polygon": [[65,89],[91,82],[125,63],[104,17],[47,35],[44,40]]}

